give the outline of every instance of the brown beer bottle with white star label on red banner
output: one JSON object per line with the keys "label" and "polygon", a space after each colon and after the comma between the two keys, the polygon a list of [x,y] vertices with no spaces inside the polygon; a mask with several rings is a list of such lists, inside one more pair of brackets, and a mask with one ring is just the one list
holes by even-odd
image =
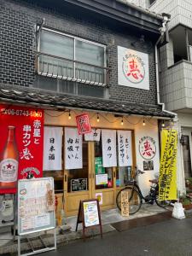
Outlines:
{"label": "brown beer bottle with white star label on red banner", "polygon": [[0,189],[17,187],[19,152],[15,142],[15,126],[8,126],[8,139],[0,154]]}

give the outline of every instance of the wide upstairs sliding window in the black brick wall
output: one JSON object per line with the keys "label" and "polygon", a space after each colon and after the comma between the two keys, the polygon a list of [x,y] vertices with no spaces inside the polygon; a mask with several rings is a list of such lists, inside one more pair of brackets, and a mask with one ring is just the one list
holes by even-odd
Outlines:
{"label": "wide upstairs sliding window in the black brick wall", "polygon": [[85,84],[107,84],[106,47],[60,32],[41,30],[38,73]]}

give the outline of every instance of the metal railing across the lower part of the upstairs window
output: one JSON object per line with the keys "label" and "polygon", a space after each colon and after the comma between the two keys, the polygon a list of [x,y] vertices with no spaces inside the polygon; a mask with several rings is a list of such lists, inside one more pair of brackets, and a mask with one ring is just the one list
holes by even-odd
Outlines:
{"label": "metal railing across the lower part of the upstairs window", "polygon": [[109,68],[37,52],[37,72],[84,84],[108,85]]}

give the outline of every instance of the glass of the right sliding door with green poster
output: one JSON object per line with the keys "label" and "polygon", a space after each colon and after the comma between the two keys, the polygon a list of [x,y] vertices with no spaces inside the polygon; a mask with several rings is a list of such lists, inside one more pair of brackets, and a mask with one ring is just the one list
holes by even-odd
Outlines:
{"label": "glass of the right sliding door with green poster", "polygon": [[113,167],[102,166],[102,141],[95,142],[96,189],[113,188]]}

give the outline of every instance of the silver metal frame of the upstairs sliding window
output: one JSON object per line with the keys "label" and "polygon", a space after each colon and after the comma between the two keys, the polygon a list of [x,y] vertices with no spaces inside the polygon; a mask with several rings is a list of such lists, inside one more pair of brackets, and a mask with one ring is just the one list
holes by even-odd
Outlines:
{"label": "silver metal frame of the upstairs sliding window", "polygon": [[[38,35],[38,53],[41,53],[40,52],[40,44],[41,44],[41,32],[42,31],[45,31],[45,32],[50,32],[50,33],[53,33],[53,34],[57,34],[57,35],[61,35],[63,37],[67,37],[67,38],[73,38],[73,77],[63,77],[63,79],[69,79],[69,80],[74,80],[76,82],[81,82],[83,84],[101,84],[99,82],[96,82],[96,81],[86,81],[86,80],[83,80],[83,81],[79,81],[79,79],[76,78],[75,76],[75,72],[76,72],[76,69],[75,69],[75,64],[76,62],[78,62],[76,60],[76,41],[79,40],[83,43],[86,43],[86,44],[90,44],[90,45],[96,45],[96,46],[99,46],[99,47],[102,47],[104,49],[104,66],[101,68],[104,68],[104,80],[103,80],[103,83],[102,83],[102,86],[105,86],[107,85],[107,46],[105,44],[99,44],[99,43],[96,43],[96,42],[93,42],[93,41],[90,41],[90,40],[87,40],[87,39],[84,39],[84,38],[79,38],[79,37],[76,37],[76,36],[72,36],[72,35],[69,35],[65,32],[59,32],[59,31],[56,31],[54,29],[51,29],[49,27],[41,27],[40,30],[39,30],[39,35]],[[43,52],[42,52],[43,53]],[[45,53],[44,53],[45,54]],[[55,57],[60,57],[58,55],[55,55]],[[81,62],[81,61],[79,61]],[[39,60],[39,56],[38,56],[38,74],[42,74],[40,73],[40,70],[39,70],[39,65],[40,63],[40,60]],[[82,63],[84,63],[85,65],[87,64],[87,66],[94,66],[93,64],[90,64],[90,63],[85,63],[82,61]],[[96,65],[97,66],[97,65]],[[99,67],[99,66],[97,66]],[[56,77],[56,75],[54,74],[49,74],[48,73],[48,76],[52,76],[52,77]]]}

